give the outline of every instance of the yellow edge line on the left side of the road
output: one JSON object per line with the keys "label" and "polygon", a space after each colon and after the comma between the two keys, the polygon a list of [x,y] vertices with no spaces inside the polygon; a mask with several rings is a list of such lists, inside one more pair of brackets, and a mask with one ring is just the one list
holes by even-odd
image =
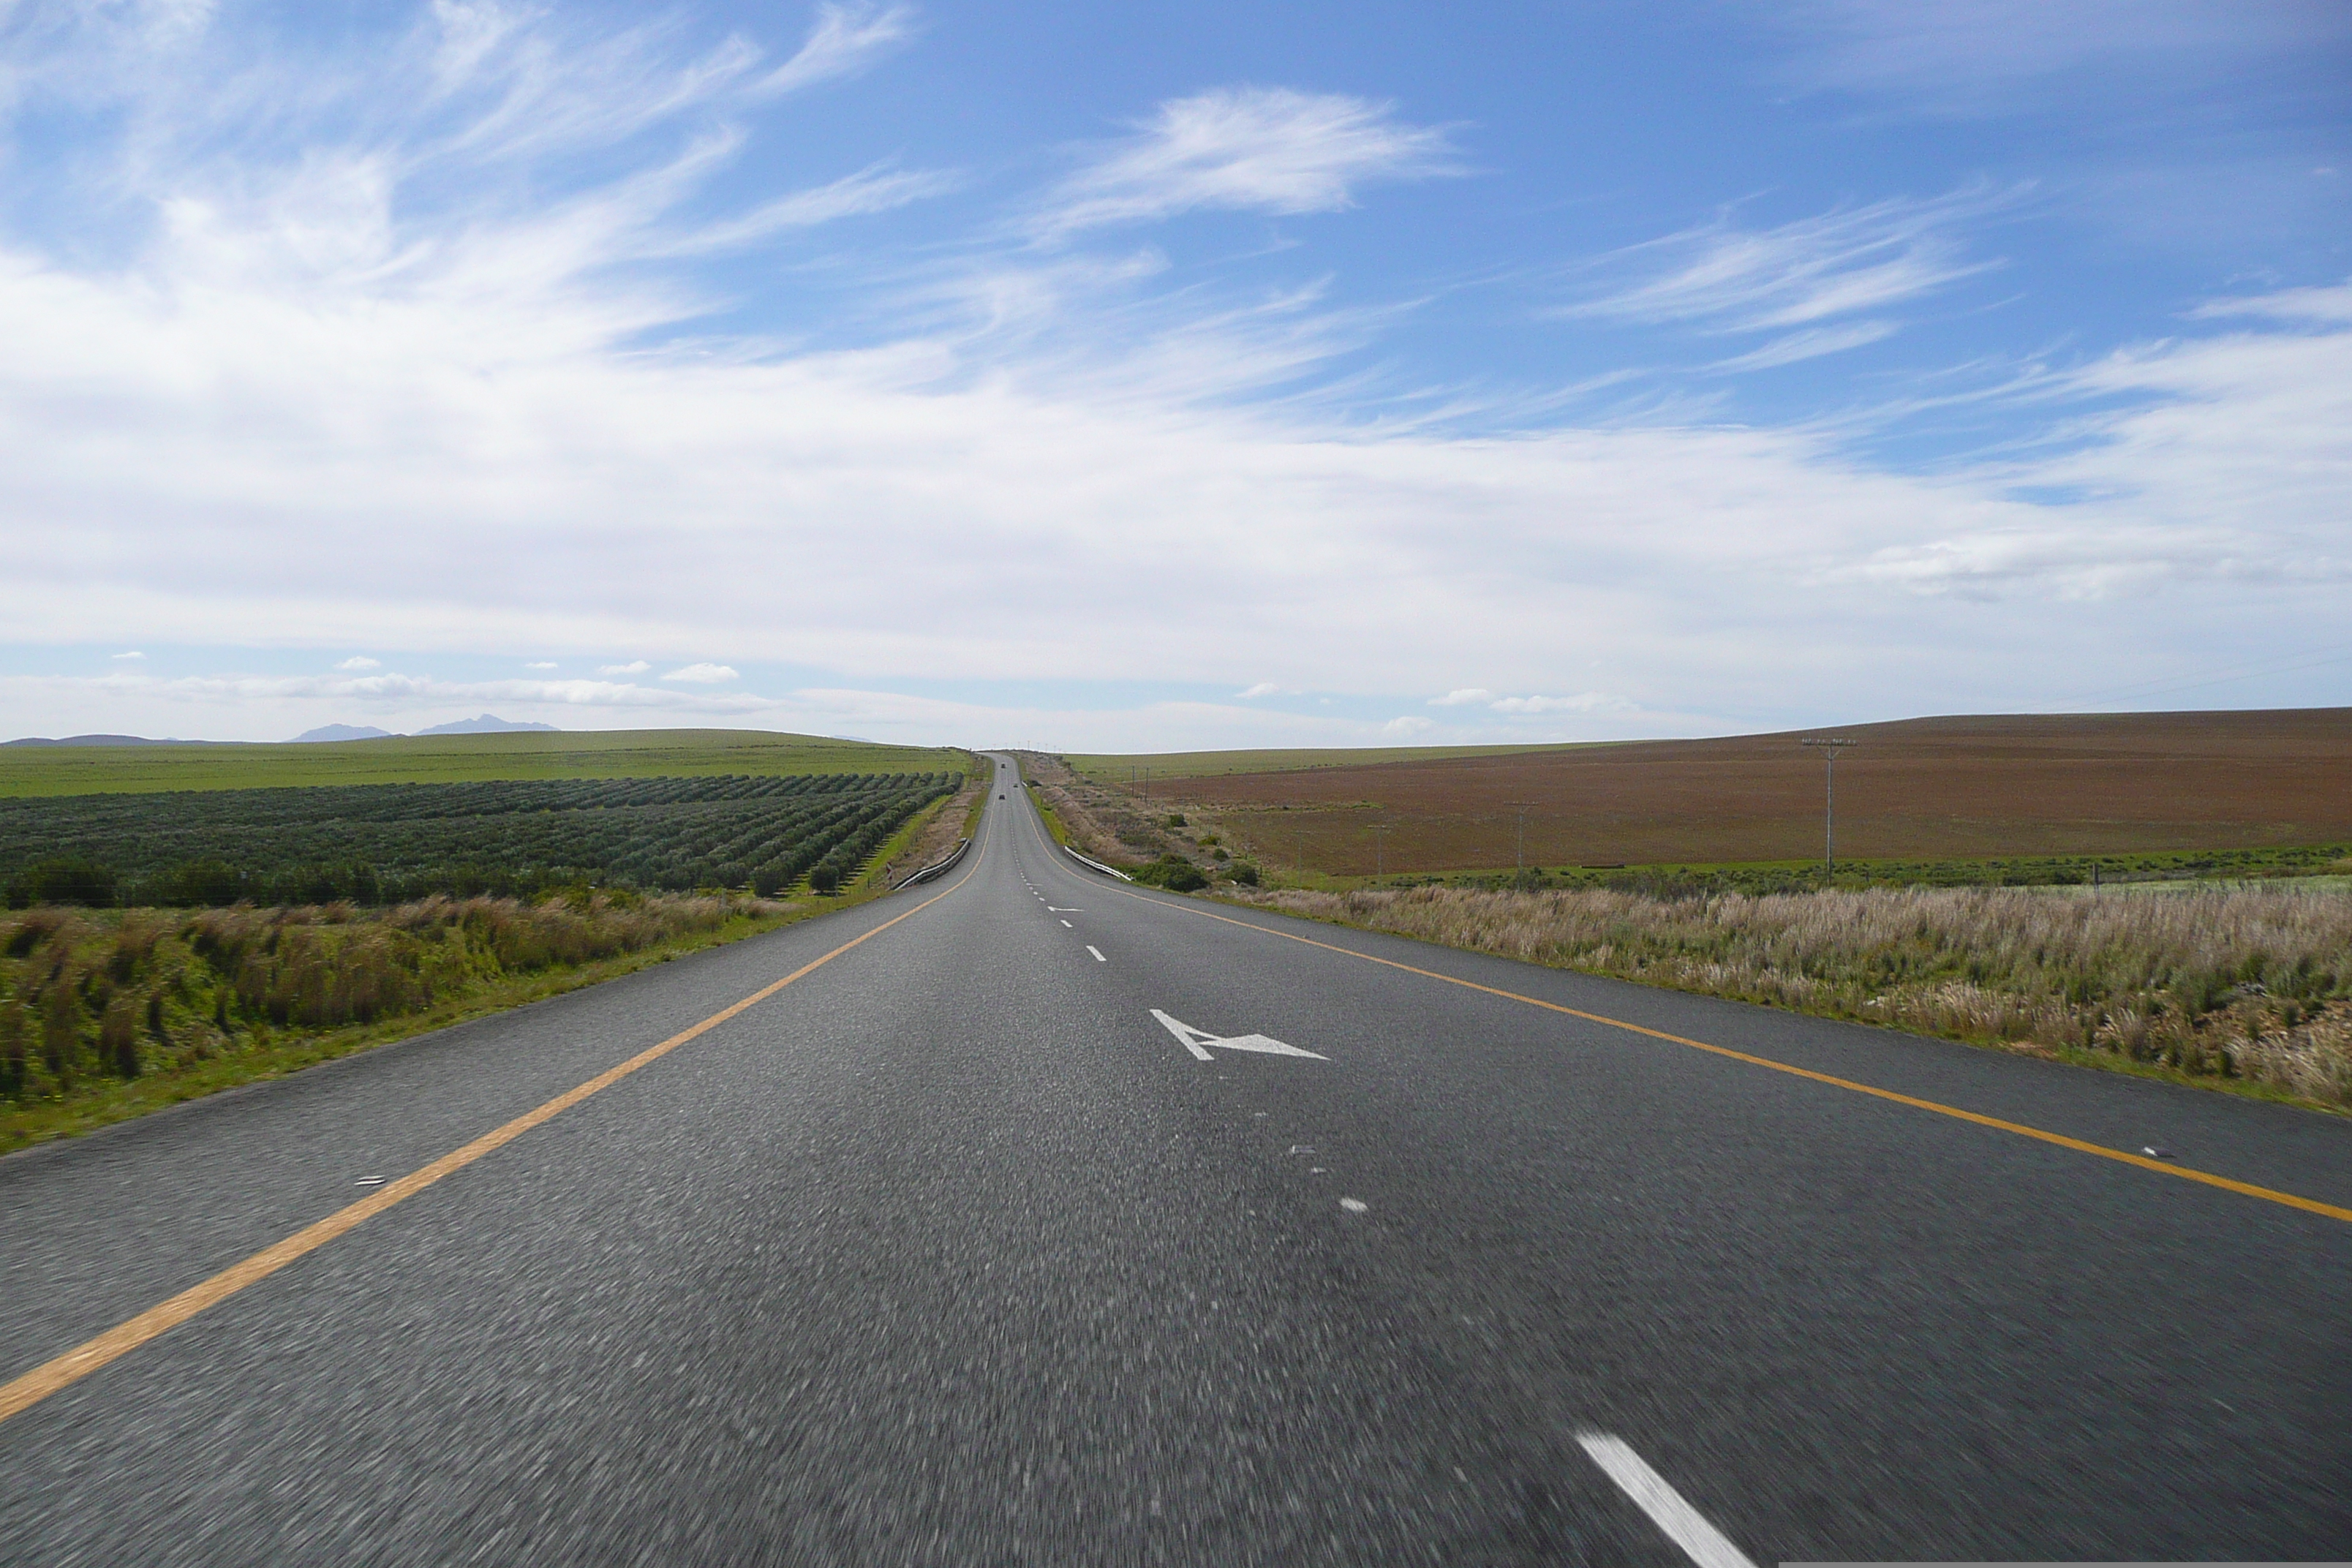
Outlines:
{"label": "yellow edge line on the left side of the road", "polygon": [[423,1192],[426,1187],[430,1187],[433,1182],[437,1182],[440,1178],[445,1178],[445,1175],[449,1175],[454,1171],[463,1171],[466,1166],[470,1166],[473,1161],[482,1159],[492,1150],[499,1150],[499,1147],[513,1143],[515,1138],[522,1138],[527,1131],[532,1131],[541,1121],[548,1121],[548,1119],[560,1117],[562,1112],[572,1110],[574,1105],[579,1105],[588,1095],[593,1095],[593,1093],[597,1093],[602,1088],[612,1088],[614,1084],[619,1084],[621,1079],[626,1079],[637,1067],[644,1067],[649,1063],[661,1060],[663,1056],[668,1056],[677,1046],[687,1044],[696,1034],[706,1034],[706,1032],[720,1027],[722,1023],[727,1023],[729,1018],[736,1018],[746,1009],[753,1009],[760,1001],[767,1001],[769,997],[774,997],[776,992],[781,992],[793,980],[797,980],[797,978],[802,978],[802,976],[807,976],[807,973],[811,973],[816,969],[823,969],[826,964],[830,964],[833,959],[842,957],[844,952],[849,952],[858,943],[863,943],[868,938],[875,938],[875,936],[882,936],[884,931],[889,931],[891,926],[896,926],[901,919],[913,919],[915,914],[922,914],[934,903],[938,903],[941,898],[946,898],[955,889],[964,886],[971,879],[971,872],[976,872],[978,867],[981,867],[981,860],[978,860],[978,856],[974,856],[971,867],[962,877],[955,879],[955,886],[941,889],[938,893],[934,893],[931,898],[924,898],[913,910],[906,910],[903,914],[894,914],[891,919],[884,919],[873,931],[866,931],[863,936],[849,938],[847,943],[842,943],[833,952],[823,954],[821,959],[811,959],[811,961],[802,964],[800,969],[795,969],[793,973],[788,973],[786,978],[774,980],[769,985],[762,985],[760,990],[755,990],[753,994],[743,997],[734,1006],[720,1009],[717,1013],[710,1013],[710,1018],[703,1018],[699,1025],[694,1025],[689,1030],[680,1030],[677,1034],[670,1034],[659,1046],[647,1046],[644,1051],[640,1051],[637,1056],[628,1058],[619,1067],[607,1067],[604,1072],[595,1074],[586,1084],[581,1084],[576,1088],[567,1088],[564,1093],[555,1095],[553,1100],[548,1100],[539,1110],[524,1112],[524,1114],[515,1117],[513,1121],[508,1121],[506,1126],[494,1128],[489,1133],[482,1133],[480,1138],[475,1138],[466,1147],[452,1150],[452,1152],[442,1154],[430,1166],[412,1171],[412,1173],[402,1175],[397,1182],[386,1182],[383,1187],[376,1187],[374,1192],[369,1192],[358,1204],[350,1204],[348,1208],[334,1211],[325,1220],[294,1232],[285,1241],[278,1241],[275,1246],[261,1248],[252,1258],[221,1269],[212,1279],[207,1279],[207,1281],[202,1281],[198,1286],[188,1286],[179,1295],[148,1307],[139,1316],[134,1316],[129,1321],[122,1321],[122,1324],[115,1324],[113,1328],[108,1328],[99,1338],[87,1340],[82,1345],[75,1345],[66,1354],[54,1356],[49,1361],[42,1361],[40,1366],[35,1366],[33,1371],[24,1373],[21,1378],[16,1378],[16,1380],[12,1380],[7,1385],[0,1385],[0,1420],[7,1420],[7,1418],[12,1418],[12,1415],[16,1415],[16,1413],[21,1413],[21,1410],[26,1410],[31,1406],[38,1406],[49,1394],[64,1389],[71,1382],[78,1382],[80,1378],[87,1378],[89,1373],[99,1371],[108,1361],[115,1361],[118,1356],[127,1356],[129,1352],[139,1349],[141,1345],[146,1345],[155,1335],[167,1333],[167,1331],[186,1324],[198,1312],[205,1312],[207,1307],[216,1307],[219,1302],[228,1300],[230,1295],[235,1295],[245,1286],[252,1286],[252,1284],[259,1284],[259,1281],[268,1279],[270,1274],[275,1274],[278,1269],[287,1267],[289,1262],[294,1262],[303,1253],[315,1253],[318,1248],[327,1246],[329,1241],[334,1241],[343,1232],[353,1229],[362,1220],[369,1220],[372,1215],[383,1213],[393,1204],[400,1204],[405,1199],[416,1197],[419,1192]]}

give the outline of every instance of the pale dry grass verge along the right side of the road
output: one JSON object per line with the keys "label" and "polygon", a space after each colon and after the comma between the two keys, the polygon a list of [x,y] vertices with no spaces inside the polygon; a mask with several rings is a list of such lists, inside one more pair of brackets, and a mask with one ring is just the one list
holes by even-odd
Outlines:
{"label": "pale dry grass verge along the right side of the road", "polygon": [[1251,896],[1449,947],[2352,1107],[2352,896],[1870,889]]}

